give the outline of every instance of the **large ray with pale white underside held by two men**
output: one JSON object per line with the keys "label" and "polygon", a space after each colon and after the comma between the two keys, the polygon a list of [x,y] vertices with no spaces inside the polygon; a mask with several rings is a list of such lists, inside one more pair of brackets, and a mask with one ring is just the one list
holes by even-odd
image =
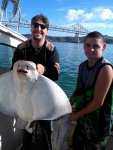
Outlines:
{"label": "large ray with pale white underside held by two men", "polygon": [[32,122],[57,119],[72,108],[65,92],[40,75],[33,62],[19,60],[12,71],[0,75],[0,111]]}

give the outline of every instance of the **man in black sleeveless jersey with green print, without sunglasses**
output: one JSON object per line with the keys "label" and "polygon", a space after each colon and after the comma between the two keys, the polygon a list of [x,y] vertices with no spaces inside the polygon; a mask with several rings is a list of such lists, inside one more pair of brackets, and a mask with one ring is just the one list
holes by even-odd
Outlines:
{"label": "man in black sleeveless jersey with green print, without sunglasses", "polygon": [[102,57],[106,44],[101,33],[89,33],[84,40],[87,60],[79,66],[77,87],[70,102],[76,112],[70,121],[77,121],[73,135],[74,150],[105,150],[111,129],[112,65]]}

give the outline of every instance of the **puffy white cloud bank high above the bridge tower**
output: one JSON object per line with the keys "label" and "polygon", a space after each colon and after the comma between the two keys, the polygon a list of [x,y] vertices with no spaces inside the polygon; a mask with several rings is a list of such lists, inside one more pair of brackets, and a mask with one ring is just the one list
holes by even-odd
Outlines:
{"label": "puffy white cloud bank high above the bridge tower", "polygon": [[78,22],[86,22],[89,20],[93,21],[105,21],[113,19],[113,11],[108,8],[96,7],[93,8],[90,12],[86,10],[78,9],[70,9],[67,12],[66,19],[68,22],[78,21]]}

